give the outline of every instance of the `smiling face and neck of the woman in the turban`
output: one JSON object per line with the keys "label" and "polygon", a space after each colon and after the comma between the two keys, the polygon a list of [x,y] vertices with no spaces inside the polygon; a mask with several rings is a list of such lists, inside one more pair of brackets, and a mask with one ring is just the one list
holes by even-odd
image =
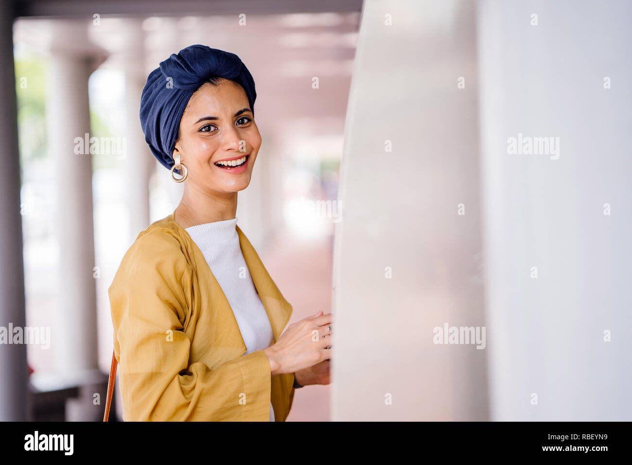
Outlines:
{"label": "smiling face and neck of the woman in the turban", "polygon": [[[174,146],[174,157],[180,156],[191,177],[176,208],[179,223],[234,218],[237,192],[248,187],[260,146],[261,135],[243,87],[226,78],[202,84],[189,99]],[[203,201],[218,198],[235,201]],[[206,211],[197,210],[204,205]]]}

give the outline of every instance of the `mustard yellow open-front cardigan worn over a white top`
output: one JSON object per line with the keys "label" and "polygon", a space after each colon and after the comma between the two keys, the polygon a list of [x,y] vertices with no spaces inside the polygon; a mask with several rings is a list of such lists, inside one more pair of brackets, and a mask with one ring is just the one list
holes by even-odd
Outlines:
{"label": "mustard yellow open-front cardigan worn over a white top", "polygon": [[[292,306],[237,232],[276,341]],[[263,350],[243,355],[226,295],[173,213],[138,234],[108,293],[125,421],[269,421],[270,402],[288,417],[293,373],[270,376]]]}

